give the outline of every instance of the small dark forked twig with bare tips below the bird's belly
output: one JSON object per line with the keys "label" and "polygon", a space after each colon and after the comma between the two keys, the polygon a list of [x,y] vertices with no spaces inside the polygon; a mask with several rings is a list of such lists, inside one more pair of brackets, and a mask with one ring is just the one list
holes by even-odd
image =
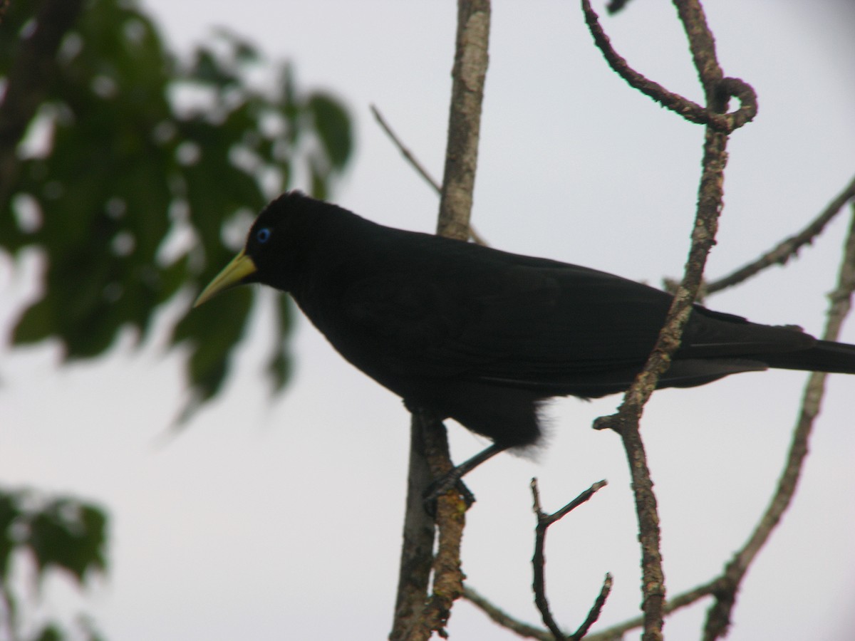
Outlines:
{"label": "small dark forked twig with bare tips below the bird's belly", "polygon": [[[549,628],[549,631],[552,633],[552,636],[557,640],[568,638],[562,631],[561,628],[558,627],[554,617],[549,608],[549,601],[546,598],[546,579],[545,579],[545,545],[546,545],[546,530],[555,523],[557,520],[563,519],[564,516],[568,515],[572,510],[578,508],[582,503],[586,503],[590,500],[593,495],[600,490],[601,488],[608,485],[605,480],[598,481],[589,487],[586,491],[583,491],[578,497],[575,497],[572,501],[567,503],[562,509],[557,510],[557,512],[552,513],[551,515],[547,515],[540,509],[540,492],[537,487],[537,479],[532,479],[531,489],[532,489],[532,498],[534,501],[534,514],[537,516],[537,527],[535,528],[535,537],[534,537],[534,556],[532,557],[532,567],[534,569],[534,577],[532,579],[532,590],[534,591],[534,604],[537,606],[537,609],[540,610],[540,617],[543,619],[544,625]],[[606,584],[608,585],[608,589],[604,584],[603,590],[600,591],[600,597],[598,597],[597,601],[594,603],[593,608],[588,613],[588,619],[591,619],[593,616],[593,620],[588,622],[587,620],[582,626],[579,628],[581,634],[587,632],[587,628],[593,625],[593,622],[598,619],[600,610],[603,608],[603,604],[605,603],[605,597],[608,596],[609,591],[611,589],[611,578],[609,575],[606,575]],[[576,632],[579,633],[578,631]],[[577,636],[571,636],[570,638],[581,638]]]}

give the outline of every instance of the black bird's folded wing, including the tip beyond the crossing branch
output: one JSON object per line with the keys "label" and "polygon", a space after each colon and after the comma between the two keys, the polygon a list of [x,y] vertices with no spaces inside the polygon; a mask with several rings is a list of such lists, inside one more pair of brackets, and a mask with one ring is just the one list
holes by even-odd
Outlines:
{"label": "black bird's folded wing, including the tip beyond the crossing branch", "polygon": [[[373,364],[394,376],[465,376],[539,388],[602,379],[602,389],[610,390],[631,381],[646,361],[671,303],[667,293],[545,259],[486,257],[495,260],[463,268],[451,261],[353,283],[344,309],[351,330],[361,328]],[[761,369],[757,355],[812,340],[700,308],[678,357],[686,366],[697,363],[684,368],[687,380],[706,380],[716,372]],[[673,376],[669,385],[681,385],[684,373],[674,368]]]}

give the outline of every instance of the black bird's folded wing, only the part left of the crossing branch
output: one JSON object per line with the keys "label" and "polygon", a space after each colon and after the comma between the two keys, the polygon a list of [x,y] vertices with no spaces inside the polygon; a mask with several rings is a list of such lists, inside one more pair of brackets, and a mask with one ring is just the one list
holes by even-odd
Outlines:
{"label": "black bird's folded wing, only the part left of the crossing branch", "polygon": [[351,331],[360,328],[402,375],[542,379],[643,362],[667,294],[587,268],[513,258],[359,279],[342,307]]}

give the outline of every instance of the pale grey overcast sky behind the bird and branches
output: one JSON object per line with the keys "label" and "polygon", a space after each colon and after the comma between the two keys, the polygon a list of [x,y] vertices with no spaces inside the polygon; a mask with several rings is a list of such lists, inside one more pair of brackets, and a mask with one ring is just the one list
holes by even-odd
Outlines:
{"label": "pale grey overcast sky behind the bird and branches", "polygon": [[[729,146],[726,207],[708,275],[727,273],[804,226],[855,168],[855,27],[848,0],[707,3],[725,73],[758,91],[757,121]],[[147,0],[180,50],[227,25],[295,64],[301,87],[334,91],[357,126],[340,204],[392,226],[432,231],[437,199],[369,115],[376,104],[439,177],[456,8],[439,2]],[[602,9],[602,4],[597,3]],[[635,0],[604,26],[634,67],[700,101],[670,3]],[[594,49],[575,2],[496,2],[474,221],[504,250],[658,284],[681,273],[702,128],[632,91]],[[304,186],[304,185],[292,185]],[[754,321],[818,333],[847,221],[787,268],[709,301]],[[0,262],[4,326],[32,285]],[[185,301],[182,304],[189,303]],[[855,327],[844,338],[855,342]],[[109,578],[85,607],[115,641],[386,638],[392,620],[407,461],[407,414],[304,319],[295,378],[268,401],[260,378],[265,309],[224,397],[167,444],[183,399],[180,355],[128,338],[97,363],[56,369],[54,345],[3,353],[0,474],[6,486],[72,492],[112,516]],[[744,543],[785,456],[802,373],[749,373],[664,391],[643,433],[663,524],[669,594],[704,583]],[[855,379],[832,377],[793,508],[740,591],[729,639],[855,638]],[[592,420],[619,402],[551,404],[550,447],[503,455],[468,479],[463,567],[517,617],[530,596],[534,517],[528,481],[557,509],[610,485],[555,526],[547,547],[553,610],[584,618],[604,573],[602,621],[638,614],[639,550],[618,438]],[[463,460],[485,442],[451,426]],[[726,470],[726,473],[722,473]],[[54,593],[68,590],[52,582]],[[707,603],[676,615],[670,638],[698,638]],[[62,614],[62,613],[61,613]],[[516,638],[460,603],[451,638]],[[632,638],[631,635],[630,638]]]}

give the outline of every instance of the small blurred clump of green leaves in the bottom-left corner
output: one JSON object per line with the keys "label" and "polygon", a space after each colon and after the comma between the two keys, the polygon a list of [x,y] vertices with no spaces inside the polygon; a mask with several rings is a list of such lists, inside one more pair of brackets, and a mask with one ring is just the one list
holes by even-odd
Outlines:
{"label": "small blurred clump of green leaves in the bottom-left corner", "polygon": [[[91,577],[103,573],[107,516],[102,509],[71,497],[44,497],[34,491],[0,491],[0,634],[3,638],[67,638],[67,631],[56,621],[38,619],[33,593],[38,589],[18,589],[16,579],[22,571],[35,580],[38,588],[55,573],[64,573],[81,587]],[[13,561],[21,560],[21,563]],[[23,567],[21,567],[23,566]],[[17,570],[17,571],[16,571]],[[77,630],[84,638],[100,635],[91,622],[82,617]],[[24,632],[25,630],[31,632]]]}

